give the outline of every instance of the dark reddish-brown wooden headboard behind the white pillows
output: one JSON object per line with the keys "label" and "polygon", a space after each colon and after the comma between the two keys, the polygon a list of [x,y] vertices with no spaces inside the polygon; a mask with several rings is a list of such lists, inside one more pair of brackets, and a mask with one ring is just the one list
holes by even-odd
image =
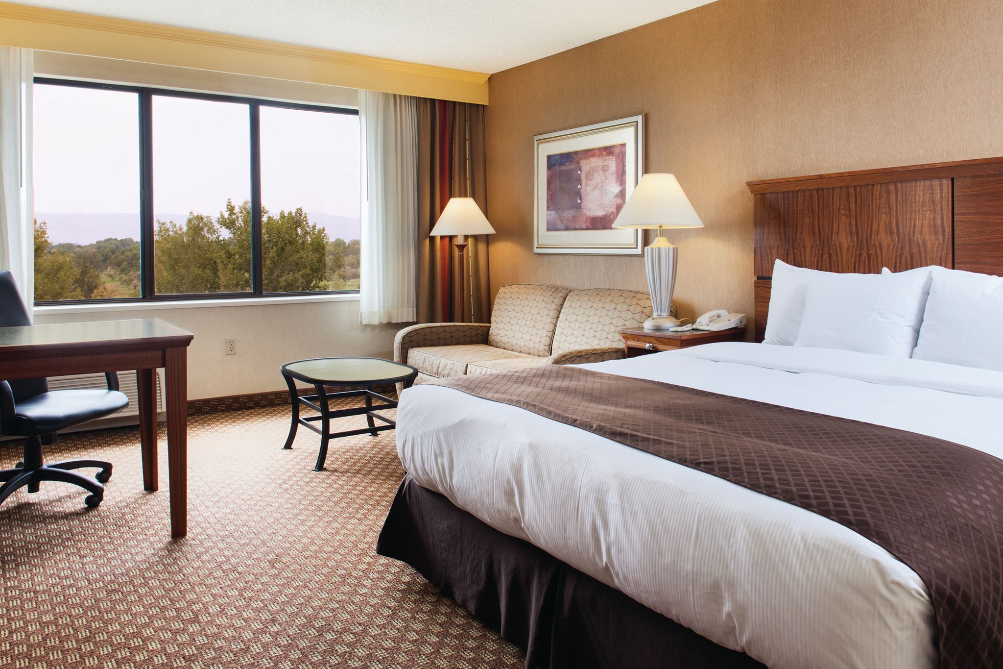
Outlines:
{"label": "dark reddish-brown wooden headboard behind the white pillows", "polygon": [[773,262],[826,272],[924,265],[1003,275],[1003,157],[748,182],[755,340]]}

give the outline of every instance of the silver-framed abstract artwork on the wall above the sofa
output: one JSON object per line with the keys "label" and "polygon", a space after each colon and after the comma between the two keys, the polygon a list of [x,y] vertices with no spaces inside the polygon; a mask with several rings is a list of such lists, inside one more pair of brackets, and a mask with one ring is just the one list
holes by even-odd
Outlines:
{"label": "silver-framed abstract artwork on the wall above the sofa", "polygon": [[640,230],[615,230],[644,174],[644,115],[538,134],[533,251],[642,253]]}

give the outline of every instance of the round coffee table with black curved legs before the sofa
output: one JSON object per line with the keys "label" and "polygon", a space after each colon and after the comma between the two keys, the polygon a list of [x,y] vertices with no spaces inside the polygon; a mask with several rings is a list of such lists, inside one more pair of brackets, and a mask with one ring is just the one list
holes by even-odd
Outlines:
{"label": "round coffee table with black curved legs before the sofa", "polygon": [[[300,425],[305,425],[320,434],[320,453],[317,455],[317,464],[314,471],[324,468],[324,460],[327,458],[327,443],[339,436],[353,436],[355,434],[365,434],[368,432],[376,436],[377,432],[385,429],[393,429],[396,422],[376,413],[377,410],[393,409],[397,407],[397,402],[386,395],[381,395],[373,391],[373,386],[388,385],[390,383],[403,383],[405,388],[409,388],[418,375],[418,370],[410,365],[399,362],[391,362],[383,358],[310,358],[307,360],[297,360],[287,362],[282,365],[282,376],[289,386],[289,397],[293,405],[293,419],[289,427],[289,436],[286,438],[286,445],[283,448],[292,448],[293,439],[296,437],[296,429]],[[317,391],[315,395],[300,396],[296,389],[296,381],[303,381],[311,384]],[[327,392],[327,386],[347,386],[357,388],[340,392]],[[365,397],[365,406],[358,406],[350,409],[331,410],[328,407],[328,399],[331,397]],[[382,404],[373,404],[373,399],[377,399]],[[312,408],[320,415],[300,417],[300,404]],[[345,416],[366,416],[368,427],[359,429],[349,429],[341,432],[331,432],[331,419],[343,418]],[[321,427],[313,424],[321,421]],[[383,425],[377,425],[375,420],[382,421]]]}

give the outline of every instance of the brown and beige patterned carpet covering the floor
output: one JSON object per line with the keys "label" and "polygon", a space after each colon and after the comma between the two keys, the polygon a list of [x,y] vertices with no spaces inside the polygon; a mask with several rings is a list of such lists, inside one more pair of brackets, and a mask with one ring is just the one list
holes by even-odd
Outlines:
{"label": "brown and beige patterned carpet covering the floor", "polygon": [[[0,667],[523,666],[410,567],[375,554],[403,475],[393,432],[334,440],[314,472],[313,432],[281,449],[288,411],[190,419],[178,542],[162,426],[153,493],[135,429],[49,447],[46,459],[107,459],[114,473],[96,510],[64,483],[0,506]],[[19,445],[0,444],[0,468],[18,459]]]}

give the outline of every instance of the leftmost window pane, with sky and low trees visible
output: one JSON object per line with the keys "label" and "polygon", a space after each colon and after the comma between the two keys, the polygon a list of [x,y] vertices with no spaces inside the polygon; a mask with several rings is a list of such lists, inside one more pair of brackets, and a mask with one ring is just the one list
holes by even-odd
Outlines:
{"label": "leftmost window pane, with sky and low trees visible", "polygon": [[35,299],[138,298],[139,96],[36,86]]}

